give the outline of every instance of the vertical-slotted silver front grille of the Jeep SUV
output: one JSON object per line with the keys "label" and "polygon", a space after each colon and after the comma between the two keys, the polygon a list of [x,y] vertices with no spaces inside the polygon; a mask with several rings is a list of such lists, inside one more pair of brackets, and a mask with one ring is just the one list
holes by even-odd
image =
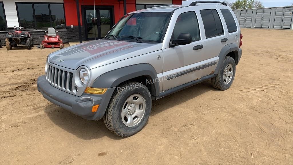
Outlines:
{"label": "vertical-slotted silver front grille of the Jeep SUV", "polygon": [[69,70],[53,65],[48,65],[46,78],[47,81],[55,87],[62,90],[67,90],[68,92],[72,91],[73,73]]}

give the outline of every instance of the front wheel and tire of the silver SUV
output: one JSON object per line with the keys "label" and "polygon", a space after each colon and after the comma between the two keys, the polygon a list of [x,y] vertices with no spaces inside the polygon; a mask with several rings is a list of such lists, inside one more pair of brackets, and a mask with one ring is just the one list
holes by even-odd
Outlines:
{"label": "front wheel and tire of the silver SUV", "polygon": [[146,86],[134,81],[121,85],[120,89],[110,100],[103,119],[114,134],[130,137],[142,130],[149,119],[151,94]]}

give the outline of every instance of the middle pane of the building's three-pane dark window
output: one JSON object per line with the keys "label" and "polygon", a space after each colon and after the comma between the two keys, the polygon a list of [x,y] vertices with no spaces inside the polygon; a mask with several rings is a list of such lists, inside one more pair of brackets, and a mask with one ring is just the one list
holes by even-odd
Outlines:
{"label": "middle pane of the building's three-pane dark window", "polygon": [[34,4],[37,29],[50,28],[50,15],[48,4]]}

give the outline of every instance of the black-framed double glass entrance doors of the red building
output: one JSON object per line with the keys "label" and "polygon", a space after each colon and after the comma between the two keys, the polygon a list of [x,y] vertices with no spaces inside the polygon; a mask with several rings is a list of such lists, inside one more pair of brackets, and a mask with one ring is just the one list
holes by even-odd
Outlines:
{"label": "black-framed double glass entrance doors of the red building", "polygon": [[84,14],[86,40],[104,38],[113,27],[112,9],[85,9]]}

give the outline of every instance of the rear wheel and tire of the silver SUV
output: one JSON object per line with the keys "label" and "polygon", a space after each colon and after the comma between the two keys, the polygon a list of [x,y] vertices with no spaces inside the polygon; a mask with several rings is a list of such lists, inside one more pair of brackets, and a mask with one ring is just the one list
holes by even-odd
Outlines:
{"label": "rear wheel and tire of the silver SUV", "polygon": [[236,65],[234,59],[226,56],[219,73],[211,79],[213,87],[219,90],[229,89],[233,83],[235,73]]}

